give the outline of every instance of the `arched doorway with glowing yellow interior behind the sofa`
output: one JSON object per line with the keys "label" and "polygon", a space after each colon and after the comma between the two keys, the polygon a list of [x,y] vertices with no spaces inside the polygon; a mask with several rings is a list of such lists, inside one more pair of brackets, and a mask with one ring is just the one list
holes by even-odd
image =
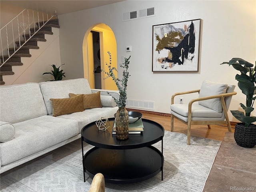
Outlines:
{"label": "arched doorway with glowing yellow interior behind the sofa", "polygon": [[[106,63],[109,63],[108,52],[111,53],[112,67],[117,68],[117,53],[116,53],[116,38],[112,29],[103,23],[98,23],[91,26],[84,35],[83,40],[83,61],[84,61],[84,78],[88,79],[91,88],[95,88],[95,71],[97,65],[94,64],[94,47],[93,47],[93,32],[99,33],[99,45],[100,45],[100,63],[98,70],[104,69],[108,71]],[[97,74],[98,76],[98,74]],[[117,76],[117,73],[116,73]],[[109,90],[117,90],[116,84],[111,78],[107,78],[104,72],[100,72],[101,88]]]}

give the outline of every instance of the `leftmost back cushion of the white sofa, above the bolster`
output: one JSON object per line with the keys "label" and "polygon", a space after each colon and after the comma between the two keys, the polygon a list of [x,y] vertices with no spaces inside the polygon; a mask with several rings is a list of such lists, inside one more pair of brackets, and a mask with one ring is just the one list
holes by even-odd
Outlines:
{"label": "leftmost back cushion of the white sofa, above the bolster", "polygon": [[38,83],[0,87],[0,119],[16,123],[47,114]]}

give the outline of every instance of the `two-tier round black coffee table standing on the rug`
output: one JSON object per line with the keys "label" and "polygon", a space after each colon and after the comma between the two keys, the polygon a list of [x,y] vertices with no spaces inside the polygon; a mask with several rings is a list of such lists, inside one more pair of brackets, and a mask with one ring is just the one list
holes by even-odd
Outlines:
{"label": "two-tier round black coffee table standing on the rug", "polygon": [[[149,179],[162,171],[163,180],[163,137],[164,128],[152,120],[142,119],[142,134],[129,134],[127,140],[112,136],[114,118],[108,119],[110,127],[98,130],[92,122],[81,130],[82,156],[85,173],[90,178],[102,173],[109,183],[134,183]],[[162,151],[152,144],[162,141]],[[83,142],[95,146],[84,155]]]}

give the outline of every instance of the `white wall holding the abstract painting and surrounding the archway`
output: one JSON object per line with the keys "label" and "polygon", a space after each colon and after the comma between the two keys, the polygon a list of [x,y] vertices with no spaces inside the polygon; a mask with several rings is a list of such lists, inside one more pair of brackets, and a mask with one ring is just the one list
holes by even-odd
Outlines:
{"label": "white wall holding the abstract painting and surrounding the archway", "polygon": [[[122,22],[122,13],[155,7],[156,16]],[[117,43],[117,59],[130,59],[128,99],[155,101],[155,111],[170,113],[175,92],[200,88],[203,80],[236,84],[236,70],[220,65],[233,57],[254,64],[256,58],[256,1],[174,1],[127,0],[108,6],[58,16],[60,56],[67,78],[83,77],[82,41],[96,23],[112,28]],[[198,73],[152,72],[152,25],[202,19],[200,70]],[[132,46],[132,52],[125,47]],[[121,76],[121,74],[119,74]],[[230,110],[245,103],[236,87]],[[191,97],[184,97],[188,102]],[[256,110],[254,110],[256,116]],[[236,121],[229,112],[231,121]]]}

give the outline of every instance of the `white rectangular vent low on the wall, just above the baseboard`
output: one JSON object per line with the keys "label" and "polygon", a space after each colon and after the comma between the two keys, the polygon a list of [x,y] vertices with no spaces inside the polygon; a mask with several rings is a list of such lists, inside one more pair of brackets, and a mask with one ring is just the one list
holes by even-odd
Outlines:
{"label": "white rectangular vent low on the wall, just above the baseboard", "polygon": [[155,110],[154,101],[126,100],[126,108]]}

